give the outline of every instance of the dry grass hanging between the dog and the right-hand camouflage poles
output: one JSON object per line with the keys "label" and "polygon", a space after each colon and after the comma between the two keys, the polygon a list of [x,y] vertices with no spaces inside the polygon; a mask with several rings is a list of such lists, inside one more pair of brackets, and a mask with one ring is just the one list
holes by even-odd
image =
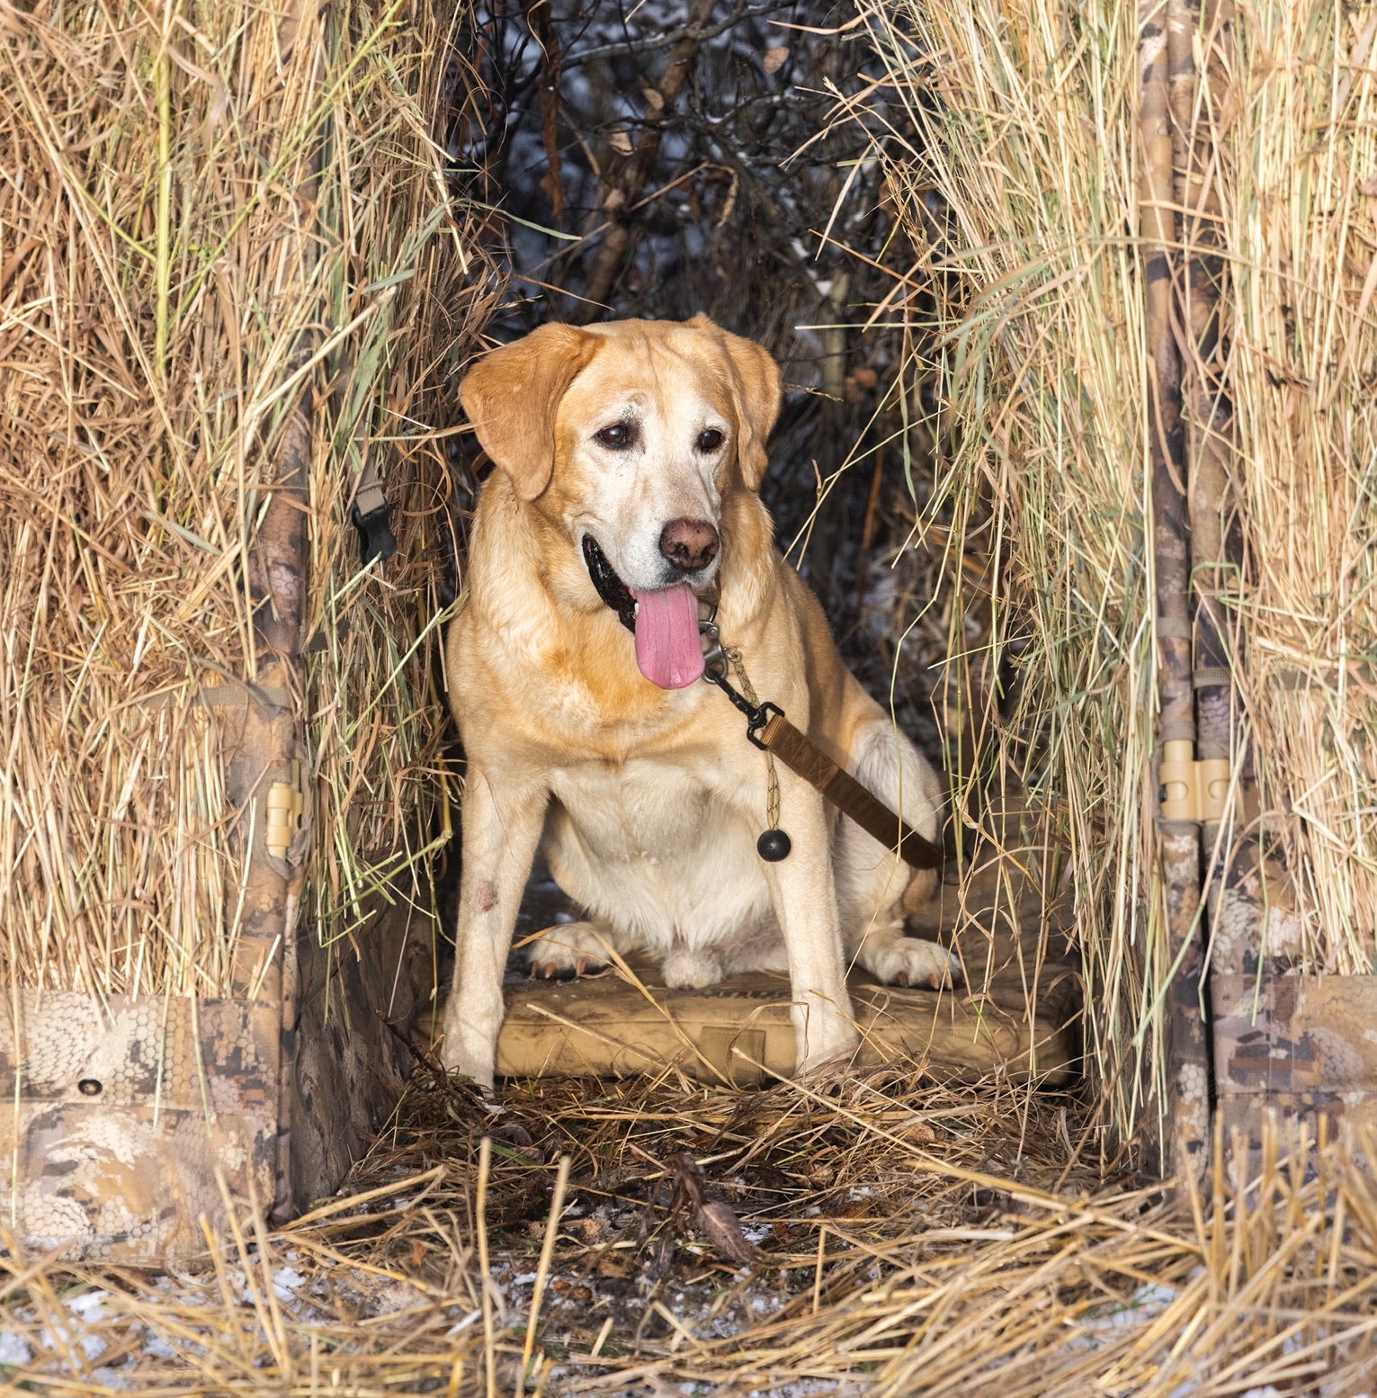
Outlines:
{"label": "dry grass hanging between the dog and the right-hand camouflage poles", "polygon": [[1169,974],[1148,872],[1134,15],[1055,0],[864,13],[885,126],[851,115],[877,129],[916,256],[877,315],[911,324],[902,391],[937,452],[916,541],[939,559],[948,703],[966,709],[946,727],[970,734],[958,804],[987,826],[990,773],[1023,787],[1029,843],[1071,889],[1089,1067],[1130,1137]]}

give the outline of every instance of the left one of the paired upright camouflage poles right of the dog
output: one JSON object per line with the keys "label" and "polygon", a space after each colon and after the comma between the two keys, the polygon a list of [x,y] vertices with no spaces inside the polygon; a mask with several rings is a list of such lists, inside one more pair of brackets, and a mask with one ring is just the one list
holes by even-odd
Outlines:
{"label": "left one of the paired upright camouflage poles right of the dog", "polygon": [[[1152,555],[1158,644],[1159,761],[1194,756],[1191,537],[1181,422],[1181,356],[1173,330],[1176,186],[1173,179],[1169,4],[1144,0],[1139,17],[1138,122],[1142,141],[1139,239],[1146,298],[1148,439],[1152,463]],[[1201,1012],[1204,948],[1199,937],[1199,828],[1187,819],[1158,821],[1160,889],[1167,928],[1170,986],[1163,1051],[1167,1100],[1163,1173],[1205,1158],[1209,1132],[1209,1069]]]}

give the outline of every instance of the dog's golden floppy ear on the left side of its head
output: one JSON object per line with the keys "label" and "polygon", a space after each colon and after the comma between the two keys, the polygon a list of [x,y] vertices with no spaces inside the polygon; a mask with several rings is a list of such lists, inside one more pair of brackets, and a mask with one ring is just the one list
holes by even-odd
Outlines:
{"label": "dog's golden floppy ear on the left side of its head", "polygon": [[596,350],[597,337],[575,326],[541,326],[484,355],[459,386],[482,449],[523,500],[549,485],[559,400]]}

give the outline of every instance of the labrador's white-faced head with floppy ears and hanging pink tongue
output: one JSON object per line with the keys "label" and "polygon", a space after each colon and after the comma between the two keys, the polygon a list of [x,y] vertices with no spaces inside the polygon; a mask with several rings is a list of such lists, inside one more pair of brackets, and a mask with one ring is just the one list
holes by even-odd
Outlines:
{"label": "labrador's white-faced head with floppy ears and hanging pink tongue", "polygon": [[[516,493],[575,548],[591,540],[593,558],[635,594],[637,658],[667,688],[692,668],[691,617],[699,651],[691,594],[721,563],[723,499],[759,488],[780,397],[774,359],[706,316],[542,326],[460,384],[478,440]],[[642,654],[651,632],[670,660]]]}

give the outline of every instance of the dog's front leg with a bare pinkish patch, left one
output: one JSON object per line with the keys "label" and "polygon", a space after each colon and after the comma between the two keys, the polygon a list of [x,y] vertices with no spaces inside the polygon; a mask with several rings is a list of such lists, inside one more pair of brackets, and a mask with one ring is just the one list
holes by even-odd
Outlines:
{"label": "dog's front leg with a bare pinkish patch, left one", "polygon": [[547,801],[542,786],[493,784],[482,772],[468,770],[454,986],[445,1011],[440,1060],[484,1088],[492,1086],[503,1015],[502,973]]}

